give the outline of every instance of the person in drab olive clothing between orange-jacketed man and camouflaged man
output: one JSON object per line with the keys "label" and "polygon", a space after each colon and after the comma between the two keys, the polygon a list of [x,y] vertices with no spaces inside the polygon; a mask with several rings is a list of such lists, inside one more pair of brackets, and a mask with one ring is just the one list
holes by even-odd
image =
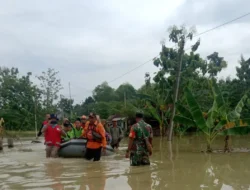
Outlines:
{"label": "person in drab olive clothing between orange-jacketed man and camouflaged man", "polygon": [[110,128],[110,134],[112,137],[111,146],[113,149],[118,149],[119,143],[123,138],[123,132],[120,127],[117,126],[117,121],[112,121],[113,125]]}

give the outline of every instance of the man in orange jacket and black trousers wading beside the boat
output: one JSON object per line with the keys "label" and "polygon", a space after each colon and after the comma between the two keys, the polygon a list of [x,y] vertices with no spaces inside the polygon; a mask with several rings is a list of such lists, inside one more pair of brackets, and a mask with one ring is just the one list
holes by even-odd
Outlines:
{"label": "man in orange jacket and black trousers wading beside the boat", "polygon": [[87,149],[85,158],[87,160],[99,161],[101,158],[102,149],[106,152],[106,137],[103,125],[97,121],[94,113],[89,115],[89,122],[86,123],[83,137],[87,138]]}

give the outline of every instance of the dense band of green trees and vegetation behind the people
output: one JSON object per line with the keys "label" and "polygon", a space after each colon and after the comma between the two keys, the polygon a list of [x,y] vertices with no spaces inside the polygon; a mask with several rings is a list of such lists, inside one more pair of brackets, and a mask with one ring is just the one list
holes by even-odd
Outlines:
{"label": "dense band of green trees and vegetation behind the people", "polygon": [[[211,108],[215,109],[215,91],[209,82],[214,81],[223,98],[223,107],[227,110],[220,114],[225,115],[229,110],[234,110],[242,97],[246,97],[237,119],[249,118],[250,100],[247,97],[250,97],[250,58],[245,59],[243,55],[239,55],[235,78],[219,80],[218,74],[227,67],[226,60],[216,51],[206,58],[201,57],[197,53],[201,45],[200,40],[189,50],[185,50],[186,43],[193,40],[194,34],[193,30],[184,27],[171,27],[169,39],[176,46],[162,44],[159,57],[153,62],[158,72],[154,76],[146,73],[145,84],[141,88],[135,89],[131,84],[124,83],[114,89],[107,82],[103,82],[93,90],[93,95],[81,104],[74,104],[74,100],[60,96],[62,85],[58,72],[53,69],[42,72],[37,77],[40,85],[35,85],[31,81],[32,73],[22,76],[18,68],[1,67],[0,117],[4,118],[8,130],[34,130],[35,115],[39,123],[46,113],[55,112],[60,113],[62,117],[76,117],[94,111],[105,119],[114,114],[132,118],[136,111],[143,111],[146,117],[158,121],[161,134],[164,135],[168,132],[174,106],[190,108],[185,89],[189,89],[188,92],[199,105],[199,110],[210,113]],[[178,76],[179,82],[176,80]],[[177,106],[176,114],[179,116],[180,111],[180,106]],[[192,120],[195,118],[192,117]],[[191,127],[201,129],[199,123],[173,124],[174,132],[179,134]]]}

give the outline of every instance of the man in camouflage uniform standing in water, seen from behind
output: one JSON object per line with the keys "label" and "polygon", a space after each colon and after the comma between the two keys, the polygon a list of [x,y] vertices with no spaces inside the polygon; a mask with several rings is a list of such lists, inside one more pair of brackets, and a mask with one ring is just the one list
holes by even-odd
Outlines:
{"label": "man in camouflage uniform standing in water, seen from behind", "polygon": [[126,158],[130,158],[131,166],[150,165],[152,138],[152,127],[143,120],[142,113],[136,113],[136,124],[131,127],[126,152]]}

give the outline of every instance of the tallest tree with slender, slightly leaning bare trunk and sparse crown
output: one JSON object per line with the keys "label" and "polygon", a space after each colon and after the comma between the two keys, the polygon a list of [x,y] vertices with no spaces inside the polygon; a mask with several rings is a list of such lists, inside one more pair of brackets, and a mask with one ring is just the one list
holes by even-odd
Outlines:
{"label": "tallest tree with slender, slightly leaning bare trunk and sparse crown", "polygon": [[[172,132],[174,127],[174,116],[176,112],[175,103],[178,99],[179,94],[179,86],[180,86],[180,77],[182,70],[187,70],[188,66],[193,63],[194,61],[183,61],[183,57],[185,55],[185,45],[187,41],[191,41],[193,39],[194,30],[190,29],[187,31],[185,27],[170,27],[169,28],[169,40],[176,44],[177,48],[167,48],[165,45],[162,45],[162,52],[160,53],[160,58],[154,60],[154,64],[159,67],[160,71],[155,76],[155,81],[162,81],[161,79],[165,77],[167,73],[170,73],[172,76],[172,79],[175,81],[175,90],[174,90],[174,97],[173,97],[173,109],[172,109],[172,115],[170,120],[170,129],[169,129],[169,135],[168,139],[172,140]],[[192,52],[195,52],[200,45],[200,41],[198,40],[192,47]],[[184,63],[184,64],[183,64]],[[186,63],[186,64],[185,64]],[[192,67],[196,68],[197,64],[191,64]],[[198,67],[198,66],[197,66]],[[193,70],[196,70],[195,68],[192,68]],[[170,77],[171,77],[170,76]],[[174,77],[173,77],[174,76]]]}

